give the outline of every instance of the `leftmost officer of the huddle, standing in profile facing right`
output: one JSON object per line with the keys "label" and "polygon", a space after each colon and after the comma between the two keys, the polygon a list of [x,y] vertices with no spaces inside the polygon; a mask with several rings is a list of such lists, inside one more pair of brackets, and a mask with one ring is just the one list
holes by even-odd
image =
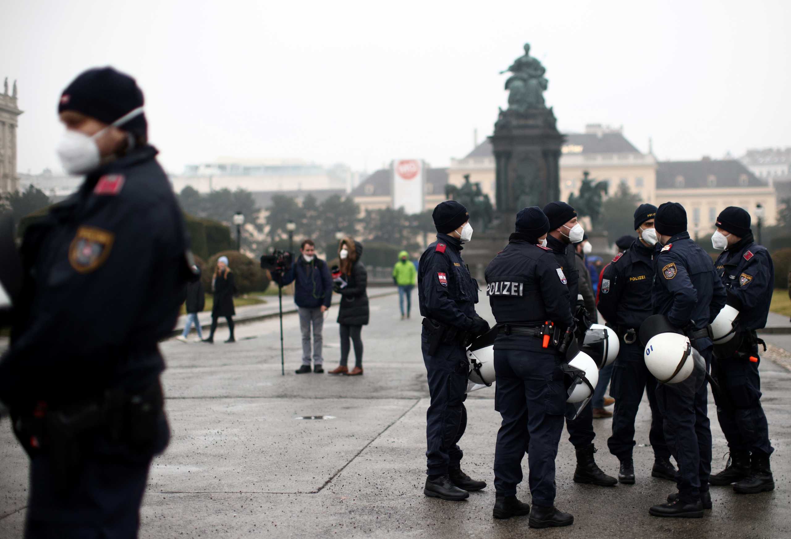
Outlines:
{"label": "leftmost officer of the huddle, standing in profile facing right", "polygon": [[468,339],[486,333],[489,324],[475,313],[478,285],[461,258],[462,244],[472,239],[470,214],[447,200],[434,208],[437,241],[420,257],[418,300],[421,346],[429,380],[431,404],[426,414],[426,488],[433,498],[466,499],[486,487],[461,471],[464,453],[457,445],[467,428],[467,374],[464,349]]}

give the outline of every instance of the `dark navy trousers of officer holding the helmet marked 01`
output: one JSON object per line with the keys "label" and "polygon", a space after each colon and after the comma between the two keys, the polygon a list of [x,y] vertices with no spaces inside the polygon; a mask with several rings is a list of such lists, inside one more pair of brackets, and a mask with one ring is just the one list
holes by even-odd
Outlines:
{"label": "dark navy trousers of officer holding the helmet marked 01", "polygon": [[[708,369],[711,347],[700,355]],[[692,375],[694,376],[694,374]],[[708,413],[708,384],[697,390],[681,390],[681,384],[657,384],[657,404],[664,417],[664,439],[679,465],[676,485],[679,498],[696,503],[709,490],[711,474],[711,426]]]}

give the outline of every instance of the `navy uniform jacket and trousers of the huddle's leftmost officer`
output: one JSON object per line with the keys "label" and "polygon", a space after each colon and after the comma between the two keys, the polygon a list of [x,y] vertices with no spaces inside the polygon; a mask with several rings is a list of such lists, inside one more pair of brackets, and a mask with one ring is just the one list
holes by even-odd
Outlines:
{"label": "navy uniform jacket and trousers of the huddle's leftmost officer", "polygon": [[[462,243],[447,234],[420,257],[418,301],[420,314],[460,331],[472,329],[478,285],[461,258]],[[459,466],[464,453],[457,445],[467,428],[467,374],[469,360],[460,341],[443,342],[429,354],[429,332],[422,330],[423,362],[426,364],[431,404],[426,413],[426,460],[428,475],[448,473]]]}

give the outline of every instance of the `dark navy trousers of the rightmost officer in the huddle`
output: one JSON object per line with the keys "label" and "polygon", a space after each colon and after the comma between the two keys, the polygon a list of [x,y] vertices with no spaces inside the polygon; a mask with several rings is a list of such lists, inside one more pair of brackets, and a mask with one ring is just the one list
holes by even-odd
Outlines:
{"label": "dark navy trousers of the rightmost officer in the huddle", "polygon": [[752,356],[759,361],[753,363],[739,357],[715,357],[711,361],[711,375],[722,391],[722,395],[718,398],[715,395],[714,399],[717,419],[730,450],[772,454],[774,448],[769,442],[769,426],[761,407],[760,356],[757,349]]}

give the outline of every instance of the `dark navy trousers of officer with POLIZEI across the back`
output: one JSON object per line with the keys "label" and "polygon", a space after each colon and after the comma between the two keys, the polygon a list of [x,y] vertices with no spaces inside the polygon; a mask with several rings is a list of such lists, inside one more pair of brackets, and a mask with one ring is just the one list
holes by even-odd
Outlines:
{"label": "dark navy trousers of officer with POLIZEI across the back", "polygon": [[566,386],[555,354],[494,350],[495,409],[502,416],[494,450],[497,496],[516,496],[528,452],[533,503],[554,505],[554,459],[563,432]]}

